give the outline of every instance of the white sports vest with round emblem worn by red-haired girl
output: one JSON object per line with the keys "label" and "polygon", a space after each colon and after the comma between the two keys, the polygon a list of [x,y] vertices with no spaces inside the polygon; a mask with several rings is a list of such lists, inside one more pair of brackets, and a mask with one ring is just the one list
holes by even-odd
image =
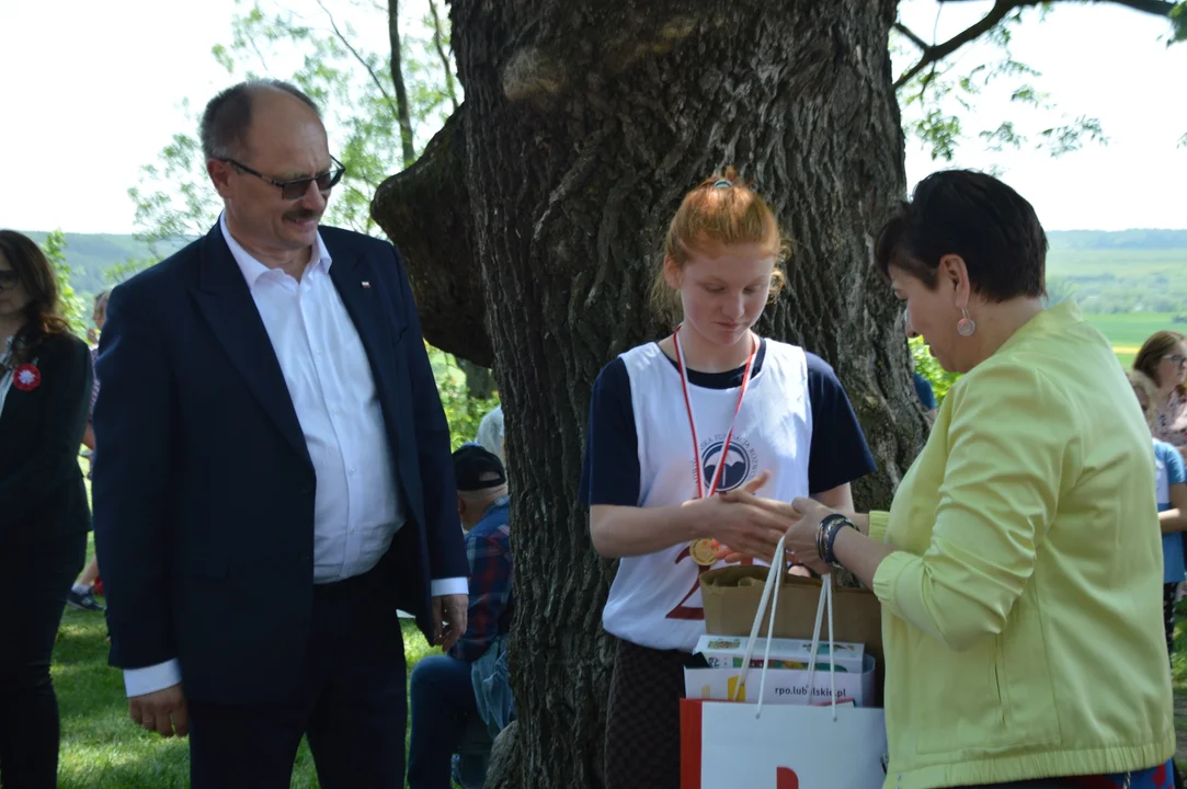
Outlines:
{"label": "white sports vest with round emblem worn by red-haired girl", "polygon": [[[808,495],[812,405],[807,358],[795,345],[766,342],[762,369],[747,388],[718,490],[732,490],[770,471],[772,481],[760,495],[791,502]],[[639,437],[639,505],[667,507],[696,498],[692,431],[679,370],[656,343],[634,348],[622,359],[630,376]],[[688,386],[705,490],[722,462],[722,445],[737,396],[737,387]],[[691,653],[705,632],[699,578],[700,567],[688,555],[687,543],[624,558],[610,586],[602,624],[608,632],[642,647]]]}

